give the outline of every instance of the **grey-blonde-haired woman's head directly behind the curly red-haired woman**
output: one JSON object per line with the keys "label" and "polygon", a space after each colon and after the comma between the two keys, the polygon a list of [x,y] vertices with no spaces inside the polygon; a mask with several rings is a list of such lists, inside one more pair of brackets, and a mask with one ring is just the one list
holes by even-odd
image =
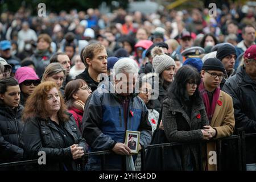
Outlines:
{"label": "grey-blonde-haired woman's head directly behind the curly red-haired woman", "polygon": [[42,82],[53,81],[57,84],[58,89],[64,96],[63,81],[65,79],[65,69],[60,63],[51,63],[44,70]]}

